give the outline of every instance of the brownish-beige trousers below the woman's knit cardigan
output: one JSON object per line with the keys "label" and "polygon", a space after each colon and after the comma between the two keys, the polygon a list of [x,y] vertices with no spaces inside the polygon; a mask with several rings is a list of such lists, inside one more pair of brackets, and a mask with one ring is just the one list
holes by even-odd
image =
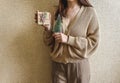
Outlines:
{"label": "brownish-beige trousers below the woman's knit cardigan", "polygon": [[52,62],[52,83],[89,83],[90,67],[88,59],[77,63]]}

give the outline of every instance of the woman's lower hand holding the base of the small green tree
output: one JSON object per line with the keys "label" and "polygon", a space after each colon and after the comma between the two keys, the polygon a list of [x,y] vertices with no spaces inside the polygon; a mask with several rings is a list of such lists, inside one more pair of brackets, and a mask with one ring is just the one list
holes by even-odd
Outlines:
{"label": "woman's lower hand holding the base of the small green tree", "polygon": [[68,36],[63,33],[54,33],[53,37],[58,43],[66,43],[68,40]]}

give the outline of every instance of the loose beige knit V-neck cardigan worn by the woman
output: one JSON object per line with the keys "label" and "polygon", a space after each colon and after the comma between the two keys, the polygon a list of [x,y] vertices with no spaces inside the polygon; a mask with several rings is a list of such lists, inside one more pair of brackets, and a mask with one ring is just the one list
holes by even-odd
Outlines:
{"label": "loose beige knit V-neck cardigan worn by the woman", "polygon": [[51,50],[53,61],[73,63],[89,58],[98,47],[99,24],[93,7],[82,6],[75,19],[67,25],[63,18],[63,33],[68,35],[67,43],[57,43],[51,31],[44,32],[44,42]]}

